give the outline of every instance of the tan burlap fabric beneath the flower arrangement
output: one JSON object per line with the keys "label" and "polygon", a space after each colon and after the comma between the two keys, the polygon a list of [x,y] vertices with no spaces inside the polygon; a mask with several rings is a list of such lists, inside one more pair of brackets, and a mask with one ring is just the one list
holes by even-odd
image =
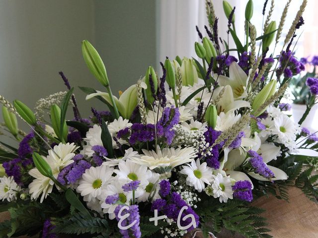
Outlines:
{"label": "tan burlap fabric beneath the flower arrangement", "polygon": [[[299,188],[289,189],[290,201],[279,200],[274,196],[262,197],[253,202],[254,206],[266,211],[262,214],[269,223],[269,233],[274,238],[318,238],[318,204],[308,199]],[[9,219],[8,212],[0,213],[0,222]],[[213,232],[213,231],[211,231]],[[194,233],[185,238],[192,238]],[[211,236],[212,237],[212,236]],[[22,238],[22,237],[20,237]],[[196,231],[195,238],[203,238]],[[217,238],[243,238],[223,231]]]}

